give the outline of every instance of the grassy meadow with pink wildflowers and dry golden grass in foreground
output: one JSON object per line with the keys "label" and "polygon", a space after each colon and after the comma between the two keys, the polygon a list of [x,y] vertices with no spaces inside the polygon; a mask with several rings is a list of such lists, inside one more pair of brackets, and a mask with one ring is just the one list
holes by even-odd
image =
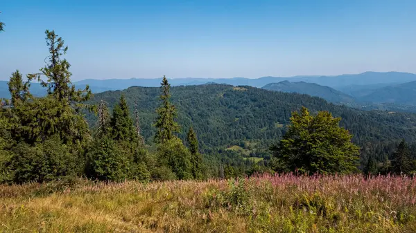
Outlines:
{"label": "grassy meadow with pink wildflowers and dry golden grass in foreground", "polygon": [[416,179],[0,185],[0,232],[416,232]]}

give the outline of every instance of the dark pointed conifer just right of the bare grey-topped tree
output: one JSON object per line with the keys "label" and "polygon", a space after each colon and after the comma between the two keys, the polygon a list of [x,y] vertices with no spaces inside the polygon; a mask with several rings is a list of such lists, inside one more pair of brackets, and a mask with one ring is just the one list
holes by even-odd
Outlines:
{"label": "dark pointed conifer just right of the bare grey-topped tree", "polygon": [[124,95],[121,95],[119,104],[114,106],[110,126],[112,128],[112,137],[114,140],[128,142],[135,142],[135,140],[137,140],[133,120],[130,116],[130,111],[128,110]]}

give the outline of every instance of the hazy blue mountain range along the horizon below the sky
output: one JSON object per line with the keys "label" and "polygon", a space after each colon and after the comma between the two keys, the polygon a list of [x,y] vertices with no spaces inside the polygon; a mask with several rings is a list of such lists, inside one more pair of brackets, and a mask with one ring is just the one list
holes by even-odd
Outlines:
{"label": "hazy blue mountain range along the horizon below the sky", "polygon": [[[93,93],[115,91],[130,86],[157,87],[157,79],[112,79],[81,80],[73,82],[77,88],[89,85]],[[322,97],[329,102],[370,109],[395,109],[395,104],[404,106],[416,105],[416,75],[412,73],[377,73],[365,72],[356,75],[338,76],[294,76],[294,77],[259,77],[249,79],[234,78],[175,78],[170,79],[172,86],[189,86],[200,84],[229,84],[233,86],[254,86],[272,91],[302,93]],[[31,84],[35,96],[45,95],[46,90],[38,83]],[[0,97],[10,97],[7,81],[0,81]],[[387,104],[387,105],[386,105]],[[376,107],[374,107],[376,106]],[[385,107],[388,106],[388,107]],[[403,109],[401,106],[399,109]]]}

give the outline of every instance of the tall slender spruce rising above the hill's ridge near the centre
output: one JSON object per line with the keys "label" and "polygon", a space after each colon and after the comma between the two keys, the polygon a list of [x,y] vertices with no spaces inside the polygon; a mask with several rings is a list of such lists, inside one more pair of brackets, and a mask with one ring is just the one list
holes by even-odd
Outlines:
{"label": "tall slender spruce rising above the hill's ridge near the centre", "polygon": [[174,138],[174,133],[180,130],[179,124],[175,122],[176,109],[175,106],[169,101],[171,99],[171,94],[169,89],[171,84],[168,83],[166,77],[163,77],[161,83],[162,95],[160,95],[160,100],[162,100],[161,106],[157,109],[158,117],[155,122],[155,127],[157,132],[155,135],[155,142],[165,143],[168,140]]}

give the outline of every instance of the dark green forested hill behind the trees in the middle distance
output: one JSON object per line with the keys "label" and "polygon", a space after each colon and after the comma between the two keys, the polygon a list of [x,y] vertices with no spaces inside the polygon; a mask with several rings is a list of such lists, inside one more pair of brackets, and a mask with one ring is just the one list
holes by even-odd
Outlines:
{"label": "dark green forested hill behind the trees in the middle distance", "polygon": [[[94,96],[93,102],[105,100],[110,109],[125,95],[134,113],[139,111],[141,132],[151,142],[155,129],[155,109],[159,105],[159,88],[133,86],[124,91],[106,91]],[[171,88],[177,106],[177,121],[182,126],[181,138],[192,124],[202,148],[218,149],[244,142],[257,142],[267,147],[277,142],[289,123],[292,111],[306,106],[312,112],[329,111],[343,118],[341,124],[354,134],[354,142],[373,147],[374,144],[396,142],[401,138],[416,139],[416,115],[385,111],[359,111],[330,104],[319,97],[295,93],[267,91],[251,86],[205,84]],[[89,115],[90,124],[94,117]],[[369,146],[370,145],[370,146]]]}

